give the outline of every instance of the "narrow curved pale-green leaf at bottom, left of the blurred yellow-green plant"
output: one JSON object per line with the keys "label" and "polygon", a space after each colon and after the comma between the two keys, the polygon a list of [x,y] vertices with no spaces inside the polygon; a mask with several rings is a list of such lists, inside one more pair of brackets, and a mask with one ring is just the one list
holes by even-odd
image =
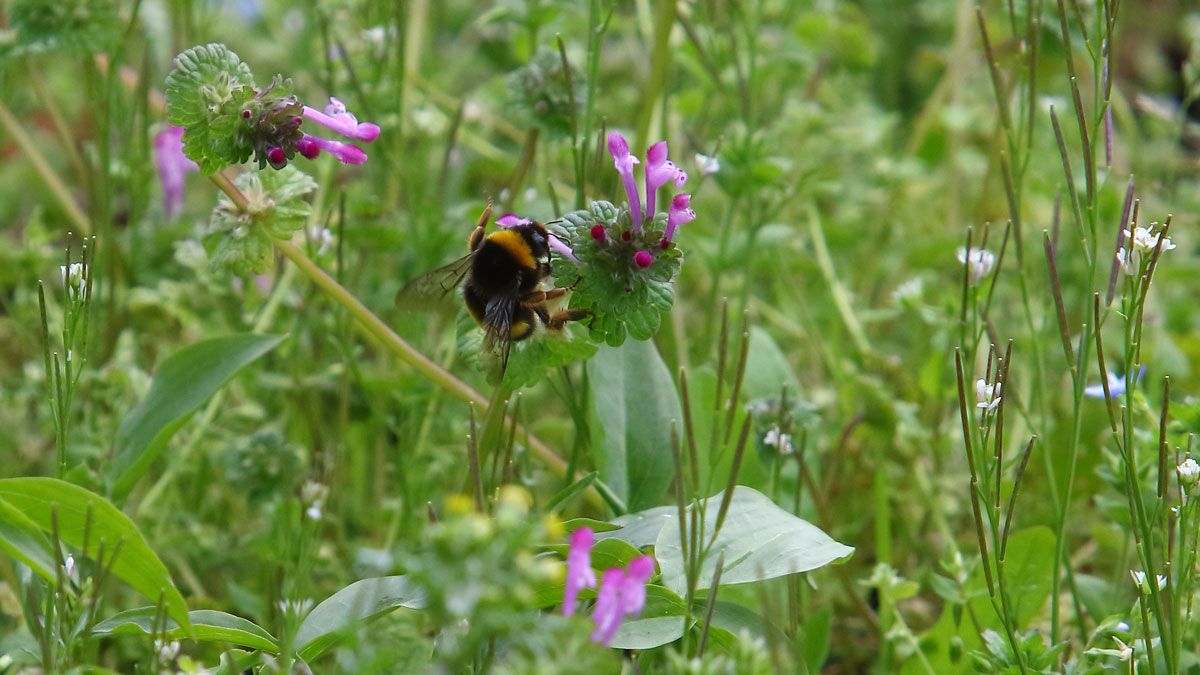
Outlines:
{"label": "narrow curved pale-green leaf at bottom, left of the blurred yellow-green plant", "polygon": [[312,661],[334,646],[344,631],[402,607],[425,607],[425,592],[407,577],[355,581],[308,613],[296,632],[296,653],[305,661]]}

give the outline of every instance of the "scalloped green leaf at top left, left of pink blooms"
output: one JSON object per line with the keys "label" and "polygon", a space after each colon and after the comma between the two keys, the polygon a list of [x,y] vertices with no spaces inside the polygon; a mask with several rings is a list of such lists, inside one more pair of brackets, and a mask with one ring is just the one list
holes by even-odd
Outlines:
{"label": "scalloped green leaf at top left, left of pink blooms", "polygon": [[224,44],[192,47],[167,76],[167,121],[184,127],[184,154],[216,173],[250,159],[242,106],[256,95],[250,66]]}

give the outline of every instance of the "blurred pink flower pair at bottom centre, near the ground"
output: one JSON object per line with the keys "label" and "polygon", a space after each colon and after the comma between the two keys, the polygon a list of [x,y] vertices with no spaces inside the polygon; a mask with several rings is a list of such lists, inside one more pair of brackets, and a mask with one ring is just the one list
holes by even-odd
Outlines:
{"label": "blurred pink flower pair at bottom centre, near the ground", "polygon": [[[575,614],[576,598],[583,589],[596,586],[592,569],[592,544],[595,537],[590,528],[581,527],[571,533],[571,546],[566,554],[566,589],[563,592],[563,614]],[[637,556],[625,569],[613,567],[600,578],[596,602],[592,609],[595,631],[592,640],[607,646],[626,616],[637,616],[646,607],[646,583],[654,574],[654,558]]]}

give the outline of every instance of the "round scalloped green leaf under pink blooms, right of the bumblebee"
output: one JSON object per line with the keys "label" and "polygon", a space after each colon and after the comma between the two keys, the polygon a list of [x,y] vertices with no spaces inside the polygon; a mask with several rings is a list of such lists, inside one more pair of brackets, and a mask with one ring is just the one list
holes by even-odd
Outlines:
{"label": "round scalloped green leaf under pink blooms, right of the bumblebee", "polygon": [[[605,228],[605,238],[592,237],[592,227]],[[571,246],[580,263],[556,258],[554,285],[574,287],[571,307],[592,312],[592,339],[619,347],[626,336],[649,340],[659,331],[662,315],[674,304],[673,281],[683,253],[674,244],[661,247],[666,216],[659,214],[640,234],[630,231],[629,211],[608,202],[571,211],[551,223],[551,232]],[[626,240],[625,237],[629,237]],[[648,268],[634,262],[634,253],[649,251]]]}

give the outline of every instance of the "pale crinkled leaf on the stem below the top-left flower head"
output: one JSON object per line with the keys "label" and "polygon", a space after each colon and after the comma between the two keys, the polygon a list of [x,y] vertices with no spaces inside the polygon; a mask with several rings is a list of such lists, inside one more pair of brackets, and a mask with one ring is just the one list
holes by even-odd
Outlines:
{"label": "pale crinkled leaf on the stem below the top-left flower head", "polygon": [[247,205],[238,208],[222,196],[212,210],[205,244],[212,247],[216,269],[239,276],[262,274],[275,259],[275,239],[288,239],[304,227],[312,207],[305,197],[317,183],[293,166],[280,171],[248,172],[234,185],[246,196]]}

